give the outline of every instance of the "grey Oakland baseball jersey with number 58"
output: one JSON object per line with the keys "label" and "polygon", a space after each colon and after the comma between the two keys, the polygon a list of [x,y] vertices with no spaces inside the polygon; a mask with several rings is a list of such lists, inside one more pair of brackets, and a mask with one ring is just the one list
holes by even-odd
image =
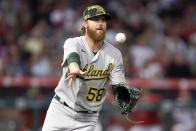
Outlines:
{"label": "grey Oakland baseball jersey with number 58", "polygon": [[[67,56],[76,52],[80,56],[81,70],[85,76],[78,76],[71,88],[65,82],[68,65]],[[96,55],[88,47],[85,37],[69,38],[64,43],[63,74],[55,89],[70,107],[76,111],[99,111],[106,96],[108,84],[125,83],[121,52],[107,41]]]}

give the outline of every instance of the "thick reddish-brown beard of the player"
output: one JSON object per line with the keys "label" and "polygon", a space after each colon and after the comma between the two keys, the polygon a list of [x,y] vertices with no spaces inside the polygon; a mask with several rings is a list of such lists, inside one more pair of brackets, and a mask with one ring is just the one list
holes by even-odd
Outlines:
{"label": "thick reddish-brown beard of the player", "polygon": [[94,41],[103,41],[105,39],[105,29],[96,30],[92,29],[89,26],[87,27],[86,33],[89,37],[91,37]]}

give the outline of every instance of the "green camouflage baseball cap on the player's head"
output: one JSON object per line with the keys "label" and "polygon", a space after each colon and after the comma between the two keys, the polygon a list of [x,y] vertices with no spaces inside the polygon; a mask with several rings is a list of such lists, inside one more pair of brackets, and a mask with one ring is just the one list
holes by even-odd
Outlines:
{"label": "green camouflage baseball cap on the player's head", "polygon": [[109,21],[111,20],[111,15],[106,13],[103,7],[100,5],[93,5],[87,7],[84,12],[83,12],[83,20],[88,20],[90,18],[93,18],[95,16],[105,16],[106,20]]}

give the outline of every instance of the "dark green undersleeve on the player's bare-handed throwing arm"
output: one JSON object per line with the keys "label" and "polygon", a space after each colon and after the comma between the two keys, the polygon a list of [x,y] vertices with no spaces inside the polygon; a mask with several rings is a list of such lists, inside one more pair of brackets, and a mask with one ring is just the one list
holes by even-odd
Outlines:
{"label": "dark green undersleeve on the player's bare-handed throwing arm", "polygon": [[79,66],[81,65],[80,56],[76,52],[70,53],[67,57],[67,64],[69,65],[72,62],[78,63]]}

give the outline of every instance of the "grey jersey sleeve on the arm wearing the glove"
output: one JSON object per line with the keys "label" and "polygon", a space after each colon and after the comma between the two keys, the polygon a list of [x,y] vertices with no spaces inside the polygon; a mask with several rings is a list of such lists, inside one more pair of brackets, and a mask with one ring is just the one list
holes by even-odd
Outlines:
{"label": "grey jersey sleeve on the arm wearing the glove", "polygon": [[119,57],[115,59],[114,67],[110,72],[110,84],[116,85],[119,83],[126,83],[125,82],[125,74],[124,74],[124,66],[123,66],[123,59],[120,53]]}

